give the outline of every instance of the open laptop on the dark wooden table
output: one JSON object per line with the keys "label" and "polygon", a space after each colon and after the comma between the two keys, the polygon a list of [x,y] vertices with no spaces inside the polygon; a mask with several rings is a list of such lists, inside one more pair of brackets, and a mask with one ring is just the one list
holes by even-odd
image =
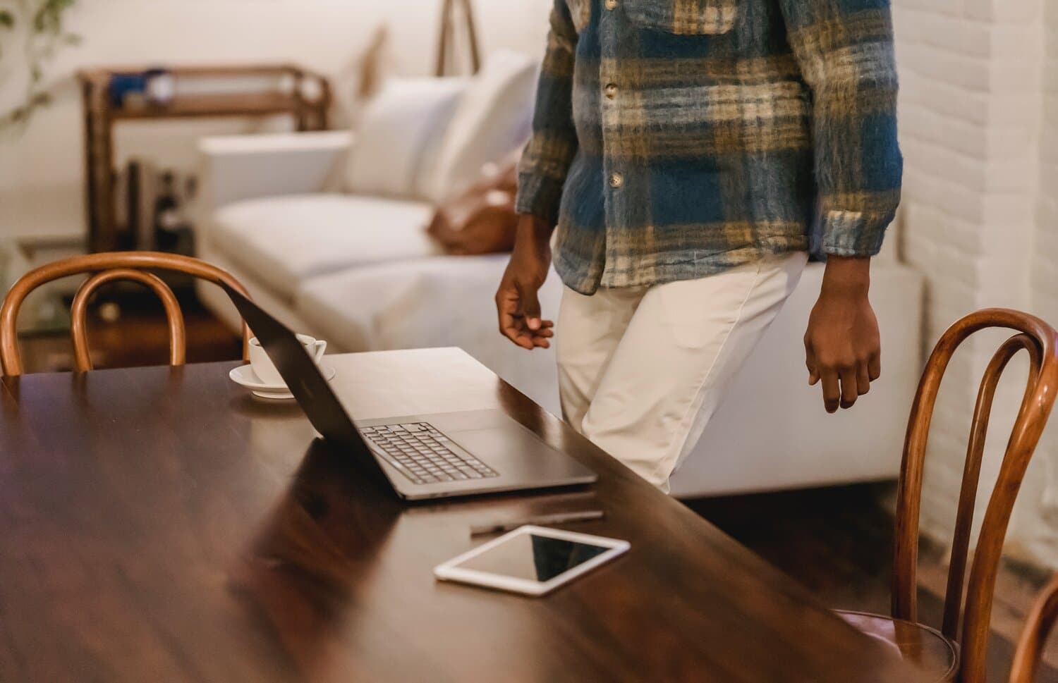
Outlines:
{"label": "open laptop on the dark wooden table", "polygon": [[394,416],[353,423],[297,336],[227,285],[312,426],[381,474],[405,500],[587,484],[595,473],[503,410]]}

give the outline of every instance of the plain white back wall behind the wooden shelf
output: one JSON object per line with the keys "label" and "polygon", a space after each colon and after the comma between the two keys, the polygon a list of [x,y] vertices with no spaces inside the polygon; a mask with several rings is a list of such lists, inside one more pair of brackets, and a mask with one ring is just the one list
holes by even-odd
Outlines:
{"label": "plain white back wall behind the wooden shelf", "polygon": [[[83,127],[72,78],[78,68],[289,60],[333,75],[363,52],[375,26],[387,22],[396,70],[426,74],[434,67],[440,6],[441,0],[79,0],[70,27],[85,40],[62,52],[51,70],[56,104],[24,132],[0,135],[0,238],[84,230]],[[476,8],[486,52],[543,52],[547,2],[477,0]],[[0,111],[22,88],[15,64],[5,63]],[[244,128],[232,122],[123,124],[117,151],[157,154],[190,168],[196,137]]]}

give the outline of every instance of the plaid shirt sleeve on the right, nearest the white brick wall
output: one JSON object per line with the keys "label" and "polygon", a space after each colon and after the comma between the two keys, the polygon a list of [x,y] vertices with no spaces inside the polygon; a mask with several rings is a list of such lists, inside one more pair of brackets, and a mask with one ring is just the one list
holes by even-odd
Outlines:
{"label": "plaid shirt sleeve on the right, nearest the white brick wall", "polygon": [[874,256],[900,201],[896,60],[889,0],[781,0],[811,89],[817,246]]}

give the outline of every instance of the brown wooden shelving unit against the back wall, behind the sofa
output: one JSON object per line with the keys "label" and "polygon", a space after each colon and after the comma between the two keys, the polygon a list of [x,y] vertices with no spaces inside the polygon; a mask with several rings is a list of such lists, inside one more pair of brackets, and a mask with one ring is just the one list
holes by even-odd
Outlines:
{"label": "brown wooden shelving unit against the back wall, behind the sofa", "polygon": [[[88,69],[78,72],[85,113],[85,191],[88,211],[88,250],[120,248],[121,226],[115,221],[114,127],[123,121],[231,118],[290,115],[298,131],[326,130],[331,104],[330,86],[323,76],[293,64],[194,66],[166,68],[177,82],[194,79],[268,78],[285,87],[260,92],[211,92],[177,95],[166,105],[117,105],[111,97],[114,77],[136,75],[147,67]],[[312,96],[307,82],[314,81]]]}

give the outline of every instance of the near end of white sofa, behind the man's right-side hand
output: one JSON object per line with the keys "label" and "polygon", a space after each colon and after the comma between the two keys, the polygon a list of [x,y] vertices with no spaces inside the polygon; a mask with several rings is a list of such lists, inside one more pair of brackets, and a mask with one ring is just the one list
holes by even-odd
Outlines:
{"label": "near end of white sofa, behind the man's right-side hand", "polygon": [[881,379],[855,408],[828,414],[819,386],[808,386],[803,343],[823,272],[822,263],[805,269],[701,441],[673,477],[673,495],[696,498],[899,475],[908,410],[923,370],[924,277],[899,264],[871,269]]}

